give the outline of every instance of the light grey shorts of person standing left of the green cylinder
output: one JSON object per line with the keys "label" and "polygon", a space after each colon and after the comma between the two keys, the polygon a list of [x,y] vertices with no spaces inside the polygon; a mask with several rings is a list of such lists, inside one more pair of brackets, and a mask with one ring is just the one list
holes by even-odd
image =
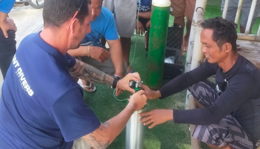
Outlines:
{"label": "light grey shorts of person standing left of the green cylinder", "polygon": [[104,0],[103,6],[114,14],[117,32],[120,37],[134,36],[137,1]]}

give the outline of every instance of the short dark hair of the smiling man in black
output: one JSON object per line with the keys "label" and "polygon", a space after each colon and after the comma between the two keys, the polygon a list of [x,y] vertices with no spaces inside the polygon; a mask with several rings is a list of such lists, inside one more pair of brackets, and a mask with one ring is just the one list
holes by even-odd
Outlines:
{"label": "short dark hair of the smiling man in black", "polygon": [[229,42],[232,45],[232,50],[237,51],[236,40],[237,40],[237,24],[232,21],[227,21],[222,17],[209,18],[201,23],[202,28],[212,29],[213,37],[212,40],[217,43],[220,51],[222,45]]}

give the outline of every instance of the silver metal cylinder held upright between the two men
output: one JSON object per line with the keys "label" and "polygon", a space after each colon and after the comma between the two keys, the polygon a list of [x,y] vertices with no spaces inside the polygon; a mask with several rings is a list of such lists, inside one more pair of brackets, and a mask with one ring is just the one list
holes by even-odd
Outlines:
{"label": "silver metal cylinder held upright between the two men", "polygon": [[139,111],[134,111],[126,124],[126,149],[143,149],[144,125],[139,120],[138,114],[145,111],[143,108]]}

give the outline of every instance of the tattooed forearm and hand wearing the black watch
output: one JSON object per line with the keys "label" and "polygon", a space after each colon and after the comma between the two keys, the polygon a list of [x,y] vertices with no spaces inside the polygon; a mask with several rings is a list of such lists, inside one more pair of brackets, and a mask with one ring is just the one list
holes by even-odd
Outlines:
{"label": "tattooed forearm and hand wearing the black watch", "polygon": [[[98,70],[97,68],[88,65],[82,61],[76,59],[76,64],[69,69],[70,75],[72,77],[77,77],[83,80],[88,80],[95,83],[102,83],[107,85],[112,85],[114,78],[105,72]],[[131,89],[128,84],[130,80],[140,81],[140,75],[135,72],[132,74],[126,75],[123,79],[118,80],[117,87],[122,90],[128,90],[134,93],[134,89]]]}

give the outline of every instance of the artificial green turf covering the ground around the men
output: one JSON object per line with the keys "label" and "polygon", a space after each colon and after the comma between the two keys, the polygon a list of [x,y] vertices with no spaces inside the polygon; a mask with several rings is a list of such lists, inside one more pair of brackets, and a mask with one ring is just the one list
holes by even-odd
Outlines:
{"label": "artificial green turf covering the ground around the men", "polygon": [[[207,5],[205,12],[205,19],[215,16],[221,16],[220,7]],[[169,26],[172,25],[174,17],[170,16]],[[260,20],[258,19],[253,27],[253,33],[257,32]],[[184,31],[185,32],[185,31]],[[137,41],[137,46],[134,55],[134,46]],[[144,39],[140,36],[132,37],[130,62],[133,60],[132,67],[136,72],[139,72],[142,80],[146,80],[146,51],[144,48]],[[186,55],[186,54],[185,54]],[[186,56],[183,57],[185,61]],[[164,80],[167,82],[169,80]],[[96,92],[88,93],[84,91],[84,100],[91,109],[95,112],[101,122],[116,116],[126,103],[119,102],[113,97],[113,89],[110,86],[95,84],[97,87]],[[118,98],[125,99],[130,96],[130,93],[124,91]],[[182,91],[163,100],[150,100],[147,103],[147,111],[157,108],[165,109],[183,109],[185,104],[186,91]],[[144,149],[190,149],[190,132],[189,125],[175,124],[173,122],[166,122],[155,128],[149,129],[145,127],[144,135]],[[108,149],[123,149],[125,148],[125,135],[126,130],[117,136],[114,142]],[[207,148],[205,144],[201,144],[202,148]]]}

